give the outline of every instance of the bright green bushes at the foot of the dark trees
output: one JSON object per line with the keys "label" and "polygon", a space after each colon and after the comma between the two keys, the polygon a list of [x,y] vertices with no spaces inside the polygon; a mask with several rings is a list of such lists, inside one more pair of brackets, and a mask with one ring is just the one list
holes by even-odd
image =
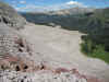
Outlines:
{"label": "bright green bushes at the foot of the dark trees", "polygon": [[94,48],[90,42],[81,44],[81,51],[87,57],[98,58],[109,63],[109,52],[105,50],[102,45],[96,45]]}

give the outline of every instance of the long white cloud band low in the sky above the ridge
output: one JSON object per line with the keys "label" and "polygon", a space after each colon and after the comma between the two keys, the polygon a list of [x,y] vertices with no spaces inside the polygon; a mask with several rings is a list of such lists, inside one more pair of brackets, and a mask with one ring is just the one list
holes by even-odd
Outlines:
{"label": "long white cloud band low in the sky above the ridge", "polygon": [[[21,1],[21,3],[25,3],[24,0]],[[77,1],[69,1],[65,3],[59,3],[59,4],[52,4],[52,5],[36,5],[36,4],[26,4],[21,8],[16,8],[17,11],[56,11],[56,10],[62,10],[62,9],[69,9],[74,7],[86,7],[81,2]]]}

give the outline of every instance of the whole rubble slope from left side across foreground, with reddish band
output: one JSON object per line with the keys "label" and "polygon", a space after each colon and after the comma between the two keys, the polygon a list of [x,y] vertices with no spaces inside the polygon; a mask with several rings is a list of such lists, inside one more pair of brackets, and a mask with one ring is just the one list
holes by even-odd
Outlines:
{"label": "whole rubble slope from left side across foreground, with reddish band", "polygon": [[[76,69],[52,68],[43,60],[34,63],[31,46],[14,30],[0,24],[1,82],[99,82],[81,74]],[[35,60],[36,61],[36,60]]]}

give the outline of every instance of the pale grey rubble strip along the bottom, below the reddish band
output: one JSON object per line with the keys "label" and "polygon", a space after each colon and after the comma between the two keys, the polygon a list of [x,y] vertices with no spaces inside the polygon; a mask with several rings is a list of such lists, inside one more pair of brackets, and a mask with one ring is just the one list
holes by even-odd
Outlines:
{"label": "pale grey rubble strip along the bottom, below the reddish band", "polygon": [[70,72],[52,73],[48,70],[34,73],[23,73],[16,71],[0,72],[2,82],[87,82],[85,78],[77,77]]}

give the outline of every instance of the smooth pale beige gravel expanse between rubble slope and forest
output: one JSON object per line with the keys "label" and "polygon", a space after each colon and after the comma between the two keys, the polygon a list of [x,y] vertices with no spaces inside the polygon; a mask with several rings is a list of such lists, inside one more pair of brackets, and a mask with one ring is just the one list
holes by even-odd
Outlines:
{"label": "smooth pale beige gravel expanse between rubble slope and forest", "polygon": [[81,33],[58,27],[27,24],[21,31],[33,49],[52,67],[78,68],[109,82],[109,66],[99,59],[87,58],[80,51]]}

